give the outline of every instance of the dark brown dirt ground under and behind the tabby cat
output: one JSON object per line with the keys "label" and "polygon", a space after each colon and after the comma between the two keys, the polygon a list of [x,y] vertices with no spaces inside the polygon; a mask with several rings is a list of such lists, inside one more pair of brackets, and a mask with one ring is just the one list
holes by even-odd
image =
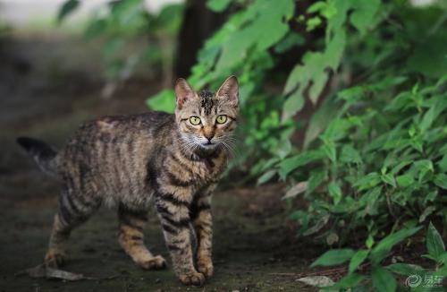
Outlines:
{"label": "dark brown dirt ground under and behind the tabby cat", "polygon": [[[104,83],[97,50],[61,36],[0,40],[0,59],[0,291],[315,290],[296,279],[309,271],[319,251],[295,237],[280,200],[283,186],[240,187],[236,182],[214,197],[215,277],[202,288],[181,286],[169,267],[137,268],[118,245],[115,210],[105,208],[72,233],[63,267],[97,279],[14,276],[42,262],[59,189],[19,149],[15,137],[29,135],[61,146],[89,118],[147,110],[145,99],[159,90],[159,82],[140,78],[127,82],[113,99],[100,99]],[[145,240],[151,251],[168,258],[155,216]]]}

